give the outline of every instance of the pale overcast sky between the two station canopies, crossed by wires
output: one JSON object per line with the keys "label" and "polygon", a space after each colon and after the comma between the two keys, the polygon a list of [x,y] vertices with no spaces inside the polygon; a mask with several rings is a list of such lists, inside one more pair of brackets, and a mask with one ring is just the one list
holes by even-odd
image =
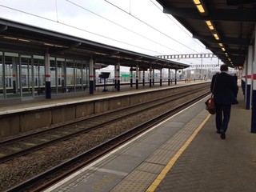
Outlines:
{"label": "pale overcast sky between the two station canopies, crossed by wires", "polygon": [[0,0],[0,17],[152,56],[210,53],[154,0]]}

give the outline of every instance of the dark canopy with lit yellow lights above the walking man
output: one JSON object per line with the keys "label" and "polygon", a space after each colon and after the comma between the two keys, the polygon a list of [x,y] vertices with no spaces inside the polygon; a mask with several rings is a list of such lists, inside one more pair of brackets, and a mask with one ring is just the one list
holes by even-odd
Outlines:
{"label": "dark canopy with lit yellow lights above the walking man", "polygon": [[[243,66],[254,46],[256,0],[157,0],[228,66]],[[171,30],[171,29],[170,29]]]}

